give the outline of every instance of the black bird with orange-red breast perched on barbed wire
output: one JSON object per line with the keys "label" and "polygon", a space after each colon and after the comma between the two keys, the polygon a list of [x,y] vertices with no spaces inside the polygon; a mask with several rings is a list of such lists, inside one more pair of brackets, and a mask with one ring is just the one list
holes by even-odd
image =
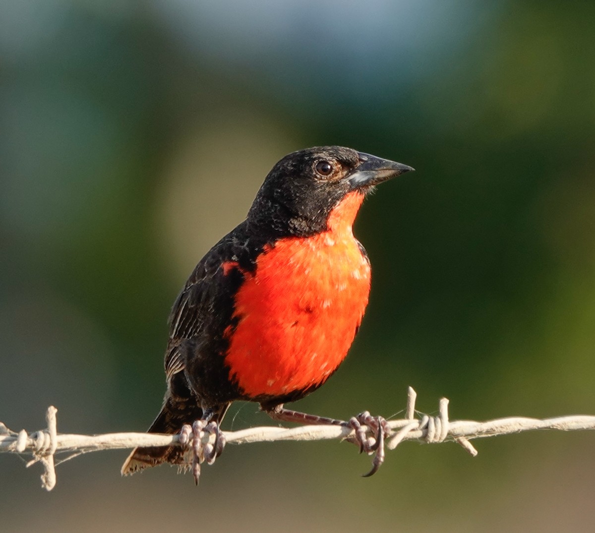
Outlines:
{"label": "black bird with orange-red breast perched on barbed wire", "polygon": [[[275,420],[346,424],[284,409],[345,359],[368,304],[370,265],[352,225],[374,186],[414,170],[339,146],[290,153],[267,175],[248,217],[202,258],[174,303],[165,352],[167,392],[151,433],[189,440],[218,427],[234,400]],[[381,419],[359,422],[384,433]],[[374,422],[375,421],[375,422]],[[195,439],[198,442],[198,438]],[[358,440],[365,449],[365,441]],[[221,437],[212,462],[221,452]],[[368,447],[367,451],[372,449]],[[198,482],[199,451],[193,471]],[[163,462],[190,466],[183,447],[139,447],[133,474]],[[378,468],[377,460],[372,473]]]}

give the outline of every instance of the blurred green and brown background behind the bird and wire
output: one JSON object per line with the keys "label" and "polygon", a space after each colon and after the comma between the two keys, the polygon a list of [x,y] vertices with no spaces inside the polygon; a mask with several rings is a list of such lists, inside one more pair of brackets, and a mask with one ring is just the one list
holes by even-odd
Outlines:
{"label": "blurred green and brown background behind the bird and wire", "polygon": [[[417,169],[358,218],[371,301],[296,408],[595,414],[595,4],[6,0],[0,8],[0,420],[144,430],[166,319],[284,154]],[[226,429],[269,424],[237,405]],[[6,531],[593,531],[595,435],[405,443],[370,479],[334,442],[228,447],[201,486],[125,452],[0,456]]]}

